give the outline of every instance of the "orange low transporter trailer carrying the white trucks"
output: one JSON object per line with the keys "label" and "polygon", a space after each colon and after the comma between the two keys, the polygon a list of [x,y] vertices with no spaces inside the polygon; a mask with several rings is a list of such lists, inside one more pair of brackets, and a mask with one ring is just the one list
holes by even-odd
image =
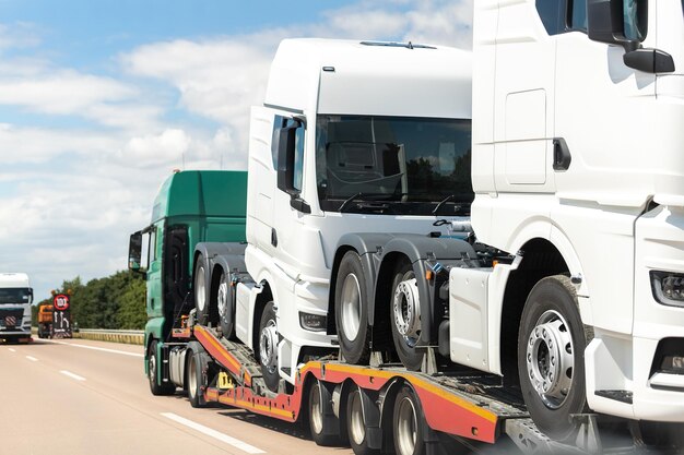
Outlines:
{"label": "orange low transporter trailer carrying the white trucks", "polygon": [[[409,371],[379,362],[379,355],[367,367],[337,356],[310,360],[299,366],[293,386],[274,393],[243,344],[197,324],[193,312],[182,325],[164,345],[169,359],[164,382],[186,390],[193,407],[214,403],[308,424],[319,445],[349,443],[355,454],[402,455],[444,453],[449,441],[473,453],[628,454],[645,448],[636,427],[609,430],[604,441],[601,418],[590,414],[575,416],[580,431],[574,444],[553,441],[498,376],[471,369],[437,372],[429,364],[425,372]],[[665,452],[661,446],[656,453]]]}

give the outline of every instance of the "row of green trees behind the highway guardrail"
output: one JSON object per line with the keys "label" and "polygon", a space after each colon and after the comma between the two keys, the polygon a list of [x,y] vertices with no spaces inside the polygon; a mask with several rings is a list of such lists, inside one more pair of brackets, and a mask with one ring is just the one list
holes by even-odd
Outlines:
{"label": "row of green trees behind the highway guardrail", "polygon": [[[71,321],[81,328],[140,330],[144,328],[145,280],[130,271],[117,272],[105,278],[83,284],[80,276],[66,279],[58,292],[71,289]],[[52,297],[38,302],[51,303]],[[36,324],[38,306],[33,308]]]}

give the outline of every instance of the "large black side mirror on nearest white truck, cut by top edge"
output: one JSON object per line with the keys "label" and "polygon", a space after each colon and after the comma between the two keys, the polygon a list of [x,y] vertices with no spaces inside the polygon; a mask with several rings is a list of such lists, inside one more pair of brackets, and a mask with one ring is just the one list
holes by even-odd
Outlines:
{"label": "large black side mirror on nearest white truck, cut by top edge", "polygon": [[625,37],[624,0],[587,0],[587,34],[589,39],[620,45],[626,52],[639,48],[637,39]]}

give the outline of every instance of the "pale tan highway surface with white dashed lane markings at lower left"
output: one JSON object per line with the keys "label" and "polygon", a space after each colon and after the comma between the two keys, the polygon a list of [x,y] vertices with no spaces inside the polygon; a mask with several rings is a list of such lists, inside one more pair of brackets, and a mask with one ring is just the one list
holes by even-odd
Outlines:
{"label": "pale tan highway surface with white dashed lane markings at lower left", "polygon": [[142,348],[83,339],[0,345],[0,455],[337,454],[306,429],[150,394]]}

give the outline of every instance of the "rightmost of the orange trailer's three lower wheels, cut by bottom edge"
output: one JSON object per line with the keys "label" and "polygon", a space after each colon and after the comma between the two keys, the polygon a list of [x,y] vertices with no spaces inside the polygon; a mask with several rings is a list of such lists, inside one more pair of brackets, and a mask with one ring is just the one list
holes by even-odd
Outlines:
{"label": "rightmost of the orange trailer's three lower wheels, cut by bottom edge", "polygon": [[425,416],[413,390],[404,385],[394,399],[392,431],[397,455],[425,454]]}

